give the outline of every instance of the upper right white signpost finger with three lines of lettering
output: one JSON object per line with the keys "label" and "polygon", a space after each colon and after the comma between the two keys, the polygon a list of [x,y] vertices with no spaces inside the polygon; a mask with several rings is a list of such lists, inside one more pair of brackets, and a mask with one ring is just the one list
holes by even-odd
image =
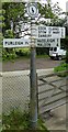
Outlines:
{"label": "upper right white signpost finger with three lines of lettering", "polygon": [[65,38],[65,28],[38,25],[36,38]]}

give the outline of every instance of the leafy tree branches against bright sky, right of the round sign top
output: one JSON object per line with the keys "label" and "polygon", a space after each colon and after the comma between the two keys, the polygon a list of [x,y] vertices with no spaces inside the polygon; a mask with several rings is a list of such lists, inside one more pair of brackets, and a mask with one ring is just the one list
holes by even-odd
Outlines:
{"label": "leafy tree branches against bright sky, right of the round sign top", "polygon": [[[46,4],[38,3],[38,11],[41,16],[50,19],[49,25],[60,25],[58,23],[61,22],[59,15],[63,14],[63,10],[59,8],[58,2],[53,4],[50,0],[46,0]],[[46,25],[48,23],[42,21],[42,24]]]}

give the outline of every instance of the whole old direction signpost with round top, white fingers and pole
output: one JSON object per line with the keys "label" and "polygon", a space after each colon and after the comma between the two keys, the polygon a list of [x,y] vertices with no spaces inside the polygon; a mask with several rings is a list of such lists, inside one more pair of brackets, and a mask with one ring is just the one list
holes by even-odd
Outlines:
{"label": "whole old direction signpost with round top, white fingers and pole", "polygon": [[36,47],[60,46],[60,38],[65,38],[65,28],[35,25],[35,18],[38,15],[37,3],[27,4],[27,14],[31,16],[31,40],[30,38],[3,38],[3,47],[31,47],[30,68],[30,113],[31,128],[37,125],[37,86],[36,86]]}

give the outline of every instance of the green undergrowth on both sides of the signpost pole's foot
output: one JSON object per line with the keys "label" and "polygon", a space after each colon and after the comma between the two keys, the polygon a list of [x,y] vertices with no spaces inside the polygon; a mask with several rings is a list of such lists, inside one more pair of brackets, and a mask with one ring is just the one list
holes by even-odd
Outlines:
{"label": "green undergrowth on both sides of the signpost pole's foot", "polygon": [[[41,118],[38,118],[36,129],[48,132]],[[22,112],[20,109],[14,109],[9,114],[3,113],[2,130],[31,130],[30,112]]]}

